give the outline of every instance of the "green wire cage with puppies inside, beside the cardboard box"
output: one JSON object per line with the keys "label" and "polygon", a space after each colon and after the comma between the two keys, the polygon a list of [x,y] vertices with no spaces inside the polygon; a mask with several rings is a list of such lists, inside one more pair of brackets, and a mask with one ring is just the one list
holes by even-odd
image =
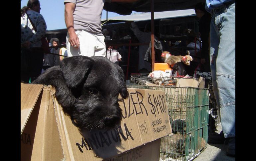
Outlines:
{"label": "green wire cage with puppies inside, beside the cardboard box", "polygon": [[[134,82],[132,77],[131,82]],[[209,107],[207,88],[146,86],[142,78],[130,88],[165,91],[172,133],[161,139],[160,161],[192,160],[206,148]]]}

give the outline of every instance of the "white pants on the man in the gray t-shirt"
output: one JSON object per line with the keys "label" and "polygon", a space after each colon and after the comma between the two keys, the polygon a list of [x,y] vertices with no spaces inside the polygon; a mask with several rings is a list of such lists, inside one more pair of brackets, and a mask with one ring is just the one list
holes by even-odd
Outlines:
{"label": "white pants on the man in the gray t-shirt", "polygon": [[69,35],[66,36],[66,49],[67,56],[106,56],[106,44],[104,42],[104,36],[97,36],[86,31],[75,31],[77,37],[79,38],[80,46],[79,48],[74,48],[70,46]]}

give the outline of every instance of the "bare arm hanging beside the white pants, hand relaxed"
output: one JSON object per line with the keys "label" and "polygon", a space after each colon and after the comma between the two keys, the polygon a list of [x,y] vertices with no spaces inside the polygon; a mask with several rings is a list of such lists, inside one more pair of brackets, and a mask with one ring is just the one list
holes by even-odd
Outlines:
{"label": "bare arm hanging beside the white pants, hand relaxed", "polygon": [[69,35],[69,42],[71,46],[76,45],[76,48],[79,48],[80,42],[79,38],[75,34],[75,29],[74,29],[74,17],[73,17],[73,12],[75,10],[75,4],[68,2],[65,3],[65,24],[67,27],[67,32]]}

